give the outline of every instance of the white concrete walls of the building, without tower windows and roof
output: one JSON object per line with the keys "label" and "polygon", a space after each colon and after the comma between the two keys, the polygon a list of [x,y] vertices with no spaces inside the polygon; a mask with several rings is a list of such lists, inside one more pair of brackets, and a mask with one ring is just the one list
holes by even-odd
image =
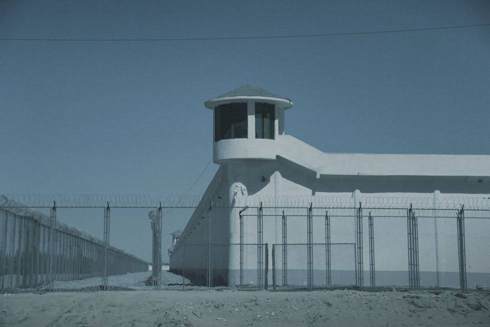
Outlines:
{"label": "white concrete walls of the building, without tower windows and roof", "polygon": [[[262,201],[264,206],[272,207],[263,211],[263,242],[269,244],[281,243],[282,209],[278,208],[281,206],[286,207],[284,211],[288,215],[288,243],[306,243],[304,207],[309,202],[313,202],[313,207],[343,207],[328,212],[332,215],[332,242],[354,242],[353,207],[357,207],[358,202],[362,202],[363,207],[407,207],[412,203],[419,209],[427,208],[429,210],[417,213],[422,251],[420,269],[457,270],[455,220],[442,216],[447,212],[455,216],[454,210],[459,204],[466,207],[490,205],[490,155],[325,153],[284,134],[281,105],[286,102],[282,100],[272,102],[276,105],[275,139],[255,139],[255,100],[263,101],[260,97],[243,97],[206,102],[209,108],[226,101],[247,102],[248,138],[213,142],[213,160],[221,167],[175,245],[170,269],[177,271],[185,258],[186,269],[196,276],[204,275],[205,280],[205,244],[210,221],[211,239],[216,244],[212,257],[215,282],[237,284],[238,246],[224,244],[239,243],[238,212],[245,206],[250,208],[244,211],[244,243],[257,242],[256,206]],[[219,199],[225,207],[215,206],[208,212],[210,198]],[[442,210],[447,207],[454,210]],[[313,218],[314,242],[324,242],[324,211],[313,210],[313,214],[319,215]],[[373,209],[372,214],[375,216],[376,269],[406,269],[406,218],[403,217],[406,212]],[[401,217],[393,217],[397,215]],[[433,218],[434,215],[440,218]],[[473,249],[473,254],[469,253],[468,271],[490,271],[490,242],[486,236],[490,226],[487,224],[482,219],[468,222],[467,244]],[[363,229],[364,268],[368,269],[367,217]],[[298,265],[306,255],[301,253],[298,250]],[[245,246],[244,254],[244,268],[255,269],[256,247]],[[349,255],[343,255],[345,262],[338,263],[339,267],[352,261]],[[324,258],[321,260],[316,259],[315,267],[318,265],[321,269]],[[253,282],[248,278],[244,281]]]}

